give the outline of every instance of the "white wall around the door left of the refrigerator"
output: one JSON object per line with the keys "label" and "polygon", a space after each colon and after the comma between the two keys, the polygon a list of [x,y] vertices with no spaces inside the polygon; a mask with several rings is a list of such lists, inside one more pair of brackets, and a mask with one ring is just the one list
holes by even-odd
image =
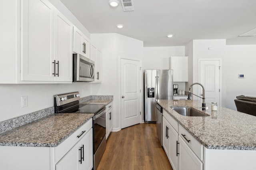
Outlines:
{"label": "white wall around the door left of the refrigerator", "polygon": [[96,95],[113,95],[113,131],[121,129],[120,57],[141,60],[143,41],[116,33],[91,34],[92,44],[102,50],[102,83],[93,84]]}

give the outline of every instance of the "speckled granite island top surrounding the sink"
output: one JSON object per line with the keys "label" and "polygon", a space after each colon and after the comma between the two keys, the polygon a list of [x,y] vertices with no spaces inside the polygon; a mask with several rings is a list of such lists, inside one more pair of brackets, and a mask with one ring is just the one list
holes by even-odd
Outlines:
{"label": "speckled granite island top surrounding the sink", "polygon": [[156,100],[174,119],[208,149],[256,150],[256,117],[246,113],[218,107],[205,111],[210,116],[183,116],[170,106],[200,108],[197,100]]}

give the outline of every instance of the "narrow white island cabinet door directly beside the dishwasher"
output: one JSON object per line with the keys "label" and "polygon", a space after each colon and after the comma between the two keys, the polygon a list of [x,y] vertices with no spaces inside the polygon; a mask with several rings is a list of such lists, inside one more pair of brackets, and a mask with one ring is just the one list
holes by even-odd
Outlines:
{"label": "narrow white island cabinet door directly beside the dishwasher", "polygon": [[168,123],[168,121],[166,120],[165,117],[163,117],[163,129],[162,129],[162,135],[163,135],[163,148],[164,148],[164,151],[169,159],[169,152],[170,152],[170,145],[169,145],[169,141],[170,141],[170,138],[169,138],[169,135],[170,135],[170,123]]}

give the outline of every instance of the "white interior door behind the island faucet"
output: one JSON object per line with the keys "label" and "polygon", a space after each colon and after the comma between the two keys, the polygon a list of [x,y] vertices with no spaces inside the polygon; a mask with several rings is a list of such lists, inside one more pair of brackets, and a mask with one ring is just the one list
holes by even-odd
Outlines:
{"label": "white interior door behind the island faucet", "polygon": [[[205,102],[220,106],[220,60],[200,60],[200,83],[205,88]],[[202,88],[200,88],[202,97]]]}

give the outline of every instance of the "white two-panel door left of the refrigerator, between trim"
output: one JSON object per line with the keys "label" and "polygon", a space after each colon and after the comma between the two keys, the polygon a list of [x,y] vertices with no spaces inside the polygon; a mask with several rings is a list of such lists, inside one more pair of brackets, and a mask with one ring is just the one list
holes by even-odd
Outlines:
{"label": "white two-panel door left of the refrigerator, between trim", "polygon": [[121,128],[140,123],[141,62],[121,59]]}

